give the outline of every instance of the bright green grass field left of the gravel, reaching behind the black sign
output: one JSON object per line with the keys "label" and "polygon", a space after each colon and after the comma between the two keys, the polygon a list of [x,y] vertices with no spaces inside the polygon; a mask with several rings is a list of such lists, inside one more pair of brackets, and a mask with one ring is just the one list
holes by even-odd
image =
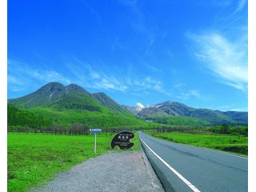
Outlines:
{"label": "bright green grass field left of the gravel, reaching behind the black sign", "polygon": [[[113,137],[97,135],[97,155],[111,150]],[[130,150],[140,150],[137,133],[131,141],[135,146]],[[22,192],[46,184],[55,173],[94,157],[94,134],[8,134],[8,191]]]}

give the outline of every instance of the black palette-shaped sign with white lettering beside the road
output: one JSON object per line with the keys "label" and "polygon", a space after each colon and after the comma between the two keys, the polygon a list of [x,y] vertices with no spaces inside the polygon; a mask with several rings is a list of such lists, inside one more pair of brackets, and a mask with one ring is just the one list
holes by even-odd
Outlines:
{"label": "black palette-shaped sign with white lettering beside the road", "polygon": [[128,150],[130,147],[134,146],[134,142],[129,140],[134,138],[134,134],[128,130],[119,132],[112,138],[111,148],[114,150],[115,146],[119,146],[121,150]]}

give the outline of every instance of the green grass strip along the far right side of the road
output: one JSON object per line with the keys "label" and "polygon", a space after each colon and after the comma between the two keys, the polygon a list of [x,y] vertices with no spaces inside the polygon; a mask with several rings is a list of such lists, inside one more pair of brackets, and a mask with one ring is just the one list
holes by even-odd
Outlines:
{"label": "green grass strip along the far right side of the road", "polygon": [[237,154],[248,154],[248,138],[234,135],[223,134],[182,134],[182,133],[158,133],[153,134],[146,131],[156,138],[166,139],[170,142],[179,142],[192,146],[202,146],[214,150],[224,150]]}

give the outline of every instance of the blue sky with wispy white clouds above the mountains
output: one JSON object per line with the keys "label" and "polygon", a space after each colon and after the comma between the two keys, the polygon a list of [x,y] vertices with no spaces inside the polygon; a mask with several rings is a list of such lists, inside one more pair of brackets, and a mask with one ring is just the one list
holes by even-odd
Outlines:
{"label": "blue sky with wispy white clouds above the mountains", "polygon": [[8,98],[47,82],[134,106],[247,110],[246,0],[8,1]]}

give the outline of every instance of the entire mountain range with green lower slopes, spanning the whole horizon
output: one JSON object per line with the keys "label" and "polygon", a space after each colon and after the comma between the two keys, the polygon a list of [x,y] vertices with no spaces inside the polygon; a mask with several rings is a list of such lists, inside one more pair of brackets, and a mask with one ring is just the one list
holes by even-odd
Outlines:
{"label": "entire mountain range with green lower slopes, spanning the whole horizon", "polygon": [[[130,112],[133,110],[134,113]],[[26,119],[26,120],[22,120]],[[50,82],[34,93],[8,100],[8,126],[42,127],[53,124],[89,127],[208,126],[247,123],[248,114],[236,111],[196,109],[180,102],[153,106],[121,106],[104,93],[90,94],[81,86]],[[33,120],[34,119],[34,120]],[[40,120],[42,119],[42,121]],[[152,122],[153,121],[153,122]],[[158,124],[160,123],[160,124]]]}

